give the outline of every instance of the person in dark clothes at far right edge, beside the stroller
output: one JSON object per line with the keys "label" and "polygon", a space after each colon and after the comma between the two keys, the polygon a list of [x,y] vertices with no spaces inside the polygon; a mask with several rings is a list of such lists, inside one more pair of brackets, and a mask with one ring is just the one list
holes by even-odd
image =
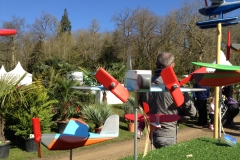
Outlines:
{"label": "person in dark clothes at far right edge, beside the stroller", "polygon": [[226,97],[224,103],[228,106],[229,112],[226,125],[231,127],[235,127],[233,119],[239,113],[238,102],[233,98],[233,93],[234,90],[232,85],[224,86],[222,89],[222,94]]}

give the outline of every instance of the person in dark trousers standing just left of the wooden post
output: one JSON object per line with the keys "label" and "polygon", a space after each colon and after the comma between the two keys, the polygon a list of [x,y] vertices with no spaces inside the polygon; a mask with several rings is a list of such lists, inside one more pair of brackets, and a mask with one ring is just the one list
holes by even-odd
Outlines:
{"label": "person in dark trousers standing just left of the wooden post", "polygon": [[210,97],[210,88],[207,86],[201,86],[199,83],[195,83],[194,88],[205,88],[206,91],[195,92],[195,101],[198,106],[198,125],[208,127],[207,120],[207,100]]}

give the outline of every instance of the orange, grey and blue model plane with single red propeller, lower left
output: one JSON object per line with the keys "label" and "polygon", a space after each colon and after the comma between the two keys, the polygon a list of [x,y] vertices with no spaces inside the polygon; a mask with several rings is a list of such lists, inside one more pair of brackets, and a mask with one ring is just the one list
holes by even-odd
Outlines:
{"label": "orange, grey and blue model plane with single red propeller, lower left", "polygon": [[40,158],[42,157],[40,143],[49,150],[70,150],[71,160],[72,149],[111,140],[119,135],[118,115],[107,118],[100,134],[89,132],[88,125],[75,118],[70,119],[62,134],[41,134],[39,118],[33,118],[32,123]]}

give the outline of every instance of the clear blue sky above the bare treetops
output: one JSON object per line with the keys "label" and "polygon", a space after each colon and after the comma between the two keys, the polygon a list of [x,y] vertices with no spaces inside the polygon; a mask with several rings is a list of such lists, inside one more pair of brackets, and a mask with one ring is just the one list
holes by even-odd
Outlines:
{"label": "clear blue sky above the bare treetops", "polygon": [[[87,29],[93,18],[102,31],[114,28],[111,18],[125,8],[148,7],[157,15],[166,15],[179,9],[184,0],[1,0],[0,23],[11,21],[12,16],[25,18],[27,24],[34,23],[42,13],[49,13],[59,21],[67,9],[72,31]],[[228,0],[232,1],[232,0]],[[203,2],[204,4],[204,2]]]}

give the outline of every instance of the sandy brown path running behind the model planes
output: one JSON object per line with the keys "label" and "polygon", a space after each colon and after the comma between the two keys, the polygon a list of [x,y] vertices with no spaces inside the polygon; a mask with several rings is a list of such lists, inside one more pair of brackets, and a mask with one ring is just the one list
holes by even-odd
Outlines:
{"label": "sandy brown path running behind the model planes", "polygon": [[[238,128],[224,128],[225,133],[232,135],[237,139],[237,143],[240,143],[240,115],[235,118],[235,124]],[[223,135],[223,133],[222,133]],[[208,128],[202,128],[191,123],[187,123],[187,127],[179,130],[177,136],[177,143],[187,141],[198,137],[213,137],[214,132]],[[223,138],[222,138],[223,139]],[[137,141],[137,151],[142,153],[146,143],[146,138]],[[150,144],[150,143],[148,143]],[[149,150],[150,150],[149,145]],[[134,155],[134,140],[126,140],[122,142],[108,143],[93,148],[74,150],[73,160],[117,160],[126,156]],[[69,160],[69,154],[60,154],[52,157],[45,157],[43,155],[42,160]]]}

